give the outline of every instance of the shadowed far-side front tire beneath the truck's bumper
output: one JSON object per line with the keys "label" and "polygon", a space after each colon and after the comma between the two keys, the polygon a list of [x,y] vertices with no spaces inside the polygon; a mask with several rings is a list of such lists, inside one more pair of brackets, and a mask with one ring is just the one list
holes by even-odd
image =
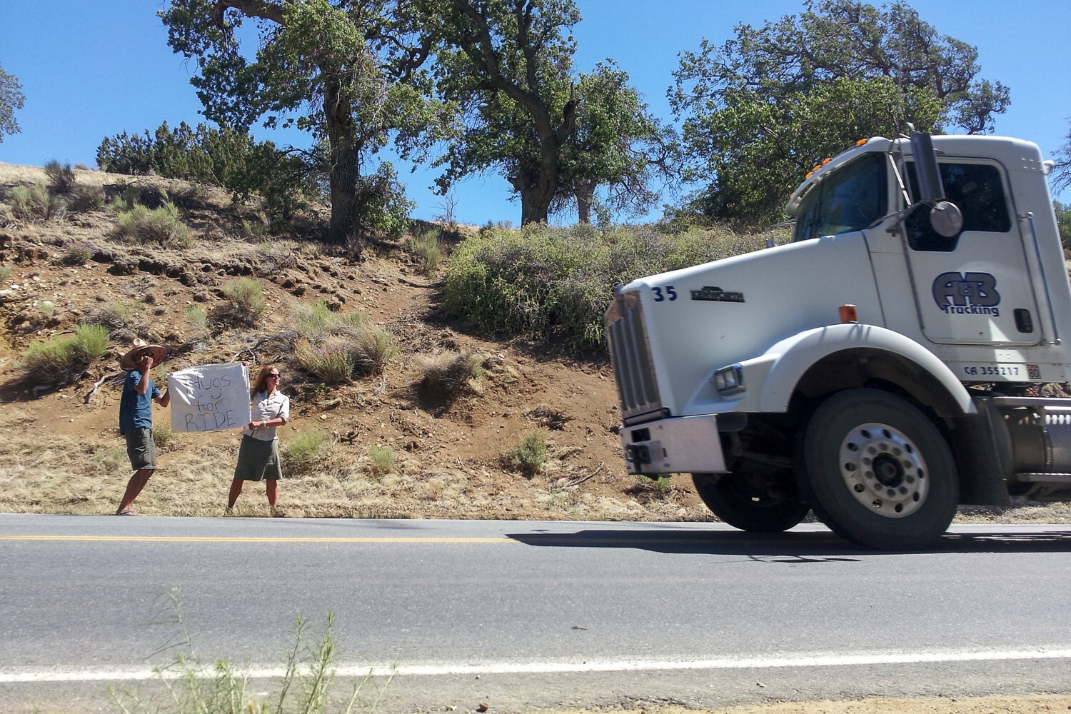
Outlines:
{"label": "shadowed far-side front tire beneath the truck's bumper", "polygon": [[[740,474],[693,473],[699,498],[715,516],[734,528],[752,533],[780,533],[796,526],[811,507],[783,492],[771,492]],[[788,490],[795,490],[789,484]]]}

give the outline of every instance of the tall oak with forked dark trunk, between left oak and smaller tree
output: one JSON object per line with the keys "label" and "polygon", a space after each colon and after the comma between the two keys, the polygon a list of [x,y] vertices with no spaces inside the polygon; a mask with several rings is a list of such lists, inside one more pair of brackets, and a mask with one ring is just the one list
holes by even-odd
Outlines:
{"label": "tall oak with forked dark trunk, between left oak and smaller tree", "polygon": [[521,197],[521,223],[545,222],[559,191],[562,151],[576,128],[571,91],[580,15],[572,0],[423,0],[441,17],[437,85],[459,110],[437,166],[441,191],[499,169]]}

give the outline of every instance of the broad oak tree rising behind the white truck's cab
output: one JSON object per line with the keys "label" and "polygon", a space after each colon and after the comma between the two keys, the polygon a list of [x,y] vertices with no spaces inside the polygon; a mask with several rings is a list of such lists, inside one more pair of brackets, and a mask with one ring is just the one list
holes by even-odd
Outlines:
{"label": "broad oak tree rising behind the white truck's cab", "polygon": [[808,0],[799,15],[738,25],[723,45],[705,40],[683,52],[674,73],[670,101],[692,157],[685,179],[707,184],[709,215],[775,217],[816,161],[856,139],[894,136],[903,121],[991,131],[1008,89],[979,72],[975,47],[905,2]]}

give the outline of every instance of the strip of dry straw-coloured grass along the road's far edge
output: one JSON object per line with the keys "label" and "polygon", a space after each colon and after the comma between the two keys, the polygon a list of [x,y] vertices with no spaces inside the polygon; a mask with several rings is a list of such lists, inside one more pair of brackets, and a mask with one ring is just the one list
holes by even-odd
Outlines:
{"label": "strip of dry straw-coloured grass along the road's far edge", "polygon": [[[157,419],[160,414],[157,413]],[[0,410],[0,512],[110,514],[131,476],[124,441],[55,437],[44,446],[17,408]],[[11,428],[21,427],[21,428]],[[10,429],[10,430],[9,430]],[[196,441],[195,441],[196,440]],[[208,442],[208,443],[206,443]],[[218,516],[238,458],[235,434],[176,435],[160,456],[160,471],[138,497],[153,516]],[[394,452],[389,472],[373,474],[363,447],[343,445],[318,470],[284,471],[280,505],[291,517],[335,518],[568,518],[582,520],[707,520],[702,508],[665,502],[657,508],[635,499],[582,493],[562,484],[525,481],[521,492],[492,486],[493,474],[470,468],[428,467]],[[239,516],[267,517],[263,487],[251,484]]]}

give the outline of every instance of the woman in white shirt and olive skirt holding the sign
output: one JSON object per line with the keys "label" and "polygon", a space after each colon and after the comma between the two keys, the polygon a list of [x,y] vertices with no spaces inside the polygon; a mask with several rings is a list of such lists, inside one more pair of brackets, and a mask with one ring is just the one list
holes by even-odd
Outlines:
{"label": "woman in white shirt and olive skirt holding the sign", "polygon": [[235,468],[235,480],[230,482],[230,497],[224,515],[233,514],[235,503],[242,492],[244,482],[261,480],[268,488],[271,515],[278,515],[275,499],[283,469],[278,461],[278,437],[275,429],[290,420],[290,397],[278,391],[281,379],[275,365],[265,365],[250,390],[252,421],[242,429],[238,466]]}

